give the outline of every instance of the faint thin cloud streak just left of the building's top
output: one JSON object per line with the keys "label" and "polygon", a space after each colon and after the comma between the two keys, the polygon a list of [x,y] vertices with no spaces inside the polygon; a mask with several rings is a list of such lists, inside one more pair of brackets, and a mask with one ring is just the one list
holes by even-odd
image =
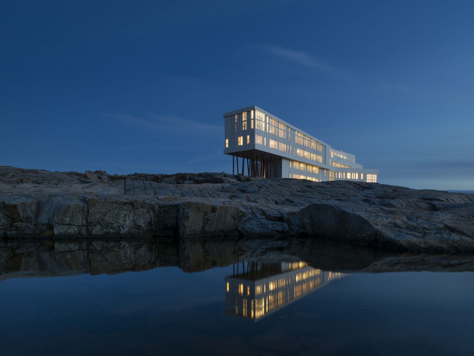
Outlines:
{"label": "faint thin cloud streak just left of the building's top", "polygon": [[104,114],[104,116],[131,126],[152,131],[152,133],[179,132],[181,135],[205,135],[206,133],[215,135],[216,132],[222,132],[223,130],[219,125],[187,120],[175,116],[154,116],[152,120],[145,120],[125,114]]}

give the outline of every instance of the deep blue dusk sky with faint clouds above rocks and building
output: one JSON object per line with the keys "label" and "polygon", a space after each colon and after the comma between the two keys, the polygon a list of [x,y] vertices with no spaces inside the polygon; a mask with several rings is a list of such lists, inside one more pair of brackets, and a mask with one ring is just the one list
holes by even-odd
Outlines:
{"label": "deep blue dusk sky with faint clouds above rocks and building", "polygon": [[472,1],[3,1],[0,165],[231,171],[257,105],[379,182],[474,190]]}

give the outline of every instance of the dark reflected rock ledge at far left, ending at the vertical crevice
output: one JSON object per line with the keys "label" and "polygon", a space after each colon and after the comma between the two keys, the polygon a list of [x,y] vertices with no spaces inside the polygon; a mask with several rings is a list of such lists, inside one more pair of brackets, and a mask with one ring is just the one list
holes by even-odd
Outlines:
{"label": "dark reflected rock ledge at far left, ending at the vertical crevice", "polygon": [[5,277],[114,274],[177,265],[173,241],[45,240],[0,243],[0,273]]}

